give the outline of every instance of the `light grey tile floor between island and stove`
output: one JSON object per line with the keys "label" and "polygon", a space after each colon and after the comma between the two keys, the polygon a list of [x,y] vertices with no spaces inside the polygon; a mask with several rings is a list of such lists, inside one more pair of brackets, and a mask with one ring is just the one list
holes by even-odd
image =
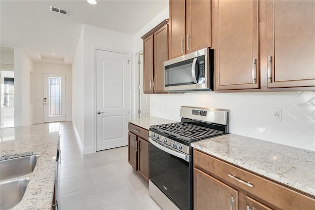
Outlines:
{"label": "light grey tile floor between island and stove", "polygon": [[61,127],[60,210],[160,210],[127,146],[83,155],[72,122]]}

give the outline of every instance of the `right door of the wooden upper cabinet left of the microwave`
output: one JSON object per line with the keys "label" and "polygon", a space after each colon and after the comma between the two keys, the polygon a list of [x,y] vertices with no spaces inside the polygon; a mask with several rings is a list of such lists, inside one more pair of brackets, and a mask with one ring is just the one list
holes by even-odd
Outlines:
{"label": "right door of the wooden upper cabinet left of the microwave", "polygon": [[154,33],[154,84],[155,93],[164,92],[164,61],[168,59],[168,25]]}

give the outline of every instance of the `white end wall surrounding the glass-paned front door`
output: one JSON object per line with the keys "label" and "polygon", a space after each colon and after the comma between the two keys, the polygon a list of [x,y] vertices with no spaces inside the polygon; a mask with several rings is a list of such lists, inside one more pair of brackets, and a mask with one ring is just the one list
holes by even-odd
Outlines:
{"label": "white end wall surrounding the glass-paned front door", "polygon": [[33,71],[33,94],[32,102],[34,108],[33,122],[43,123],[44,122],[44,73],[52,74],[64,74],[65,75],[65,91],[66,91],[66,121],[71,121],[72,116],[72,65],[56,64],[56,63],[34,63]]}

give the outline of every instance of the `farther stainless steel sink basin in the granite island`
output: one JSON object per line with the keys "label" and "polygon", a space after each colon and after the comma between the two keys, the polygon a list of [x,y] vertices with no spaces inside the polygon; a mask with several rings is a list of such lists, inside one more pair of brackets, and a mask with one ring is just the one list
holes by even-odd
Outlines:
{"label": "farther stainless steel sink basin in the granite island", "polygon": [[[39,155],[30,155],[0,161],[0,180],[15,178],[34,171]],[[2,195],[1,195],[2,196]]]}

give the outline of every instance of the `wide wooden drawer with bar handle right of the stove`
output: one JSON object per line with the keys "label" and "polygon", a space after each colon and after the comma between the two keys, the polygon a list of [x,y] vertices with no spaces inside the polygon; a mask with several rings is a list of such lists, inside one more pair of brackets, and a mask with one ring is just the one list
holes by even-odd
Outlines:
{"label": "wide wooden drawer with bar handle right of the stove", "polygon": [[315,200],[311,197],[195,149],[193,150],[193,164],[194,167],[202,168],[280,209],[301,209],[301,205],[303,209],[315,207]]}

